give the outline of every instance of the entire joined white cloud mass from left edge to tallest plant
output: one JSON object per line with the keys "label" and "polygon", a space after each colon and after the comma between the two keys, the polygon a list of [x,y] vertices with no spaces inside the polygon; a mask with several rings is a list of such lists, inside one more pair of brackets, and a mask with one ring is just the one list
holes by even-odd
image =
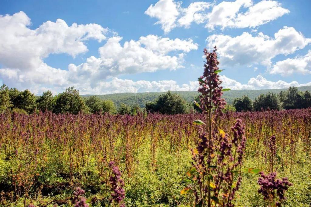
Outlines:
{"label": "entire joined white cloud mass from left edge to tallest plant", "polygon": [[[0,39],[0,78],[10,87],[30,88],[35,93],[44,88],[60,92],[72,85],[92,91],[92,88],[105,86],[107,83],[103,80],[120,74],[176,70],[183,67],[185,54],[198,48],[191,39],[156,35],[125,41],[121,45],[122,37],[107,38],[110,31],[100,25],[74,23],[68,26],[60,19],[47,21],[37,29],[30,29],[29,25],[30,19],[22,11],[0,16],[3,37]],[[90,38],[99,42],[107,40],[98,49],[98,57],[91,56],[80,65],[69,64],[68,70],[44,63],[49,54],[66,53],[75,57],[86,52],[85,41]],[[160,86],[164,87],[164,82]]]}

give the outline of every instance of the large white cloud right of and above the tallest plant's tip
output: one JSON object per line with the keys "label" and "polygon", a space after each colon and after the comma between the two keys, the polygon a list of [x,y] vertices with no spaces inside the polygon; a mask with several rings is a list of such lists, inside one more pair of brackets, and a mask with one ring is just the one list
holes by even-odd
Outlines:
{"label": "large white cloud right of and above the tallest plant's tip", "polygon": [[297,32],[293,27],[283,27],[271,38],[262,33],[253,36],[244,32],[240,36],[215,34],[207,39],[207,47],[215,45],[220,55],[220,63],[225,65],[262,64],[271,65],[271,59],[276,55],[288,55],[304,48],[311,43],[310,38]]}

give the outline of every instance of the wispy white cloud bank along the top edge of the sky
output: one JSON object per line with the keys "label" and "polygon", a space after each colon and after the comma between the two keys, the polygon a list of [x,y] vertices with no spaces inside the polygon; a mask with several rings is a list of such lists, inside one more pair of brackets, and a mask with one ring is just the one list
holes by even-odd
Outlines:
{"label": "wispy white cloud bank along the top edge of the sky", "polygon": [[[160,0],[145,11],[146,15],[157,18],[165,33],[175,27],[188,28],[192,22],[205,23],[205,27],[214,29],[225,28],[255,28],[288,14],[290,11],[281,3],[263,0],[253,4],[251,0],[236,0],[233,2],[192,2],[188,7],[181,7],[182,2]],[[211,10],[209,10],[211,9]],[[242,9],[247,11],[242,12]],[[209,11],[208,11],[209,10]]]}

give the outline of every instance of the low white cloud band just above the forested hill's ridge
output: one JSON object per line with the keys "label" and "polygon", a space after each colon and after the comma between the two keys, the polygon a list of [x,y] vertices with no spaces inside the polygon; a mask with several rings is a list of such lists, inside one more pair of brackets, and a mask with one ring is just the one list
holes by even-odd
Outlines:
{"label": "low white cloud band just above the forested hill's ridge", "polygon": [[[234,79],[230,79],[225,75],[220,75],[223,88],[230,88],[231,90],[241,89],[274,89],[274,88],[289,88],[290,86],[299,87],[311,85],[310,83],[299,84],[296,81],[287,83],[285,81],[269,81],[258,75],[256,78],[249,79],[247,84],[239,83]],[[199,87],[198,81],[189,81],[189,83],[178,84],[174,80],[160,80],[160,81],[132,81],[128,79],[112,78],[110,81],[100,81],[98,86],[94,88],[81,87],[81,94],[109,94],[121,92],[165,92],[165,91],[197,91]],[[78,87],[79,88],[79,87]]]}

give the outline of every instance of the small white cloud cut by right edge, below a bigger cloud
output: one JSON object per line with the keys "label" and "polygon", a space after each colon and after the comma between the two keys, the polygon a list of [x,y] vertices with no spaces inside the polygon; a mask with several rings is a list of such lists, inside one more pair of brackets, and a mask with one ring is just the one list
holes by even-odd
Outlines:
{"label": "small white cloud cut by right edge, below a bigger cloud", "polygon": [[281,74],[283,76],[297,74],[311,74],[311,50],[305,56],[288,58],[276,62],[270,70],[271,74]]}

